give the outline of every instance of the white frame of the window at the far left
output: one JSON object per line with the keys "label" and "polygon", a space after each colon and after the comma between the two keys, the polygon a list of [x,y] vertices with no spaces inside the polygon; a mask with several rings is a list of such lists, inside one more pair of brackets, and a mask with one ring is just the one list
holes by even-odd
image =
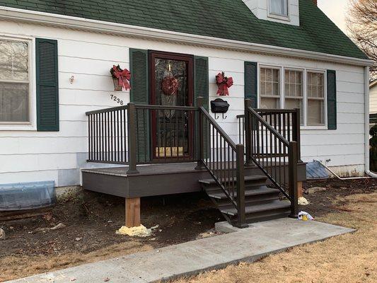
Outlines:
{"label": "white frame of the window at the far left", "polygon": [[36,131],[36,86],[35,86],[35,38],[25,36],[4,35],[0,33],[0,40],[28,42],[29,47],[29,122],[0,122],[0,131]]}

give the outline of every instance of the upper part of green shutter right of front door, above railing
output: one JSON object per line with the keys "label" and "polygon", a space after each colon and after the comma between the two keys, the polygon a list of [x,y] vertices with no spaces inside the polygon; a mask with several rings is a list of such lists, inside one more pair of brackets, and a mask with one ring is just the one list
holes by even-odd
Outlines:
{"label": "upper part of green shutter right of front door, above railing", "polygon": [[197,98],[202,96],[203,106],[209,107],[209,86],[208,86],[208,58],[194,57],[194,105]]}

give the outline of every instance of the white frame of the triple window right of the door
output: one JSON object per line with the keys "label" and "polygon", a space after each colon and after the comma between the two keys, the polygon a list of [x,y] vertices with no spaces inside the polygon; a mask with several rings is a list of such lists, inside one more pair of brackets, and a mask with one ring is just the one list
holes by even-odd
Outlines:
{"label": "white frame of the triple window right of the door", "polygon": [[[284,65],[277,65],[277,64],[258,64],[257,68],[257,88],[258,88],[258,99],[257,99],[257,106],[260,108],[260,69],[261,68],[269,68],[269,69],[279,69],[280,71],[280,109],[285,108],[285,71],[302,71],[303,74],[303,125],[301,125],[301,129],[327,129],[327,76],[325,69],[315,69],[315,68],[301,68],[295,66],[284,66]],[[313,73],[321,73],[323,74],[323,95],[325,99],[324,103],[324,110],[325,110],[325,125],[315,125],[309,126],[307,121],[308,115],[308,72]]]}

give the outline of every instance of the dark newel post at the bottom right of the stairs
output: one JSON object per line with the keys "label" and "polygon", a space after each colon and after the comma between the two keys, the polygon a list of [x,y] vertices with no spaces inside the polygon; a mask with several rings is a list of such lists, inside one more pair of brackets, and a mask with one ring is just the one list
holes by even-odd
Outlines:
{"label": "dark newel post at the bottom right of the stairs", "polygon": [[292,218],[297,218],[298,214],[298,191],[297,191],[297,142],[289,142],[289,197],[291,198],[291,214]]}

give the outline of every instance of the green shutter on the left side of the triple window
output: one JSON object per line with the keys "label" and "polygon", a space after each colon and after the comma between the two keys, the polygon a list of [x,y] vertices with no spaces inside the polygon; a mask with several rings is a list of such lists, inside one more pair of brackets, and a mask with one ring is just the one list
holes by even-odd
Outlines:
{"label": "green shutter on the left side of the triple window", "polygon": [[256,62],[245,62],[245,99],[251,99],[253,108],[258,106],[258,71]]}

